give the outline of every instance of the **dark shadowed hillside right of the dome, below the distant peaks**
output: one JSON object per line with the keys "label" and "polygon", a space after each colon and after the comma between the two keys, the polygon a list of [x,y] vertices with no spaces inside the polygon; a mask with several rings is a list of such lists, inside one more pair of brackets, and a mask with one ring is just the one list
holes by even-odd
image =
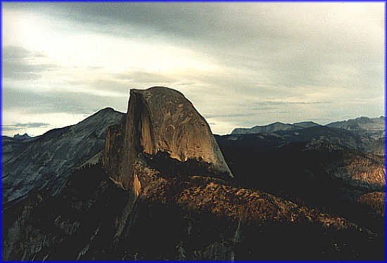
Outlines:
{"label": "dark shadowed hillside right of the dome, below the distant peaks", "polygon": [[326,139],[288,143],[274,134],[216,138],[236,180],[244,186],[384,231],[385,200],[377,198],[386,186],[383,155]]}

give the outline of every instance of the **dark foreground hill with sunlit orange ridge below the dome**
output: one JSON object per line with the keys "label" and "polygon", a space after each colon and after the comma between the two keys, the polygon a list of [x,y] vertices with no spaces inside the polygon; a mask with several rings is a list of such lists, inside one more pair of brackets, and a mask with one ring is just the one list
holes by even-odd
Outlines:
{"label": "dark foreground hill with sunlit orange ridge below the dome", "polygon": [[[343,217],[200,176],[153,177],[132,202],[101,165],[4,220],[6,260],[382,260],[383,235]],[[9,214],[9,211],[8,211]]]}

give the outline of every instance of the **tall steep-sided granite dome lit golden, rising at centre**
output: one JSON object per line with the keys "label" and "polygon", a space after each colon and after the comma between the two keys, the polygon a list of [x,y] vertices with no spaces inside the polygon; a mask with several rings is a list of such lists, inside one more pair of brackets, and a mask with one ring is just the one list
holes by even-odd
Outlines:
{"label": "tall steep-sided granite dome lit golden, rising at centre", "polygon": [[183,94],[158,86],[132,89],[127,115],[108,129],[103,165],[113,181],[128,189],[139,177],[135,164],[147,165],[160,154],[187,165],[198,162],[207,167],[206,174],[233,178],[208,123]]}

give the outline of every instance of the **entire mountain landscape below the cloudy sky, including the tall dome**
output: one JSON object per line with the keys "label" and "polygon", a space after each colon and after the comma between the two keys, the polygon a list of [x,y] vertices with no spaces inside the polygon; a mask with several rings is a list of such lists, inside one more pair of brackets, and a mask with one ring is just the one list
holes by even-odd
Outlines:
{"label": "entire mountain landscape below the cloudy sky, including the tall dome", "polygon": [[179,91],[131,90],[2,136],[3,260],[383,260],[384,117],[213,136]]}

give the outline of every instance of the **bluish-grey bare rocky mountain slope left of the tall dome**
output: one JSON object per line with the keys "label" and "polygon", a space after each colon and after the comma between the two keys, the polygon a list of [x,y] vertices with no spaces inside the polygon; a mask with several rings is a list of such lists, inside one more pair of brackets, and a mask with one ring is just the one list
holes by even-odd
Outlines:
{"label": "bluish-grey bare rocky mountain slope left of the tall dome", "polygon": [[78,124],[53,129],[42,136],[3,140],[3,203],[41,188],[49,188],[55,194],[74,169],[103,149],[106,130],[120,122],[122,115],[106,108]]}

